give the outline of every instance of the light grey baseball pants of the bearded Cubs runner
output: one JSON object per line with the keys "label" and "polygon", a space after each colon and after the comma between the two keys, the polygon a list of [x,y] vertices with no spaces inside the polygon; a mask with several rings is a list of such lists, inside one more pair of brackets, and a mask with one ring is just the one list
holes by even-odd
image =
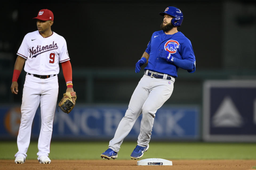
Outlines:
{"label": "light grey baseball pants of the bearded Cubs runner", "polygon": [[174,81],[173,77],[167,80],[143,75],[131,96],[128,109],[117,127],[114,138],[109,142],[109,148],[115,152],[119,151],[123,139],[129,134],[141,113],[142,120],[137,143],[142,147],[148,145],[155,113],[170,98]]}

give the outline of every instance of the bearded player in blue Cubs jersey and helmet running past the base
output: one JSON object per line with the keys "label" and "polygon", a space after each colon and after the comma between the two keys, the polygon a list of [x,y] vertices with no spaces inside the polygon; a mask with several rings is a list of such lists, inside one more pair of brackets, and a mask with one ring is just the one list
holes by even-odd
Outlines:
{"label": "bearded player in blue Cubs jersey and helmet running past the base", "polygon": [[183,20],[181,10],[169,6],[164,12],[161,31],[151,36],[147,49],[136,63],[135,72],[147,63],[145,74],[135,88],[125,113],[120,121],[109,148],[101,158],[117,158],[123,139],[129,134],[137,118],[142,114],[137,146],[131,159],[139,159],[149,148],[155,113],[170,98],[178,68],[195,72],[195,55],[189,39],[177,30]]}

